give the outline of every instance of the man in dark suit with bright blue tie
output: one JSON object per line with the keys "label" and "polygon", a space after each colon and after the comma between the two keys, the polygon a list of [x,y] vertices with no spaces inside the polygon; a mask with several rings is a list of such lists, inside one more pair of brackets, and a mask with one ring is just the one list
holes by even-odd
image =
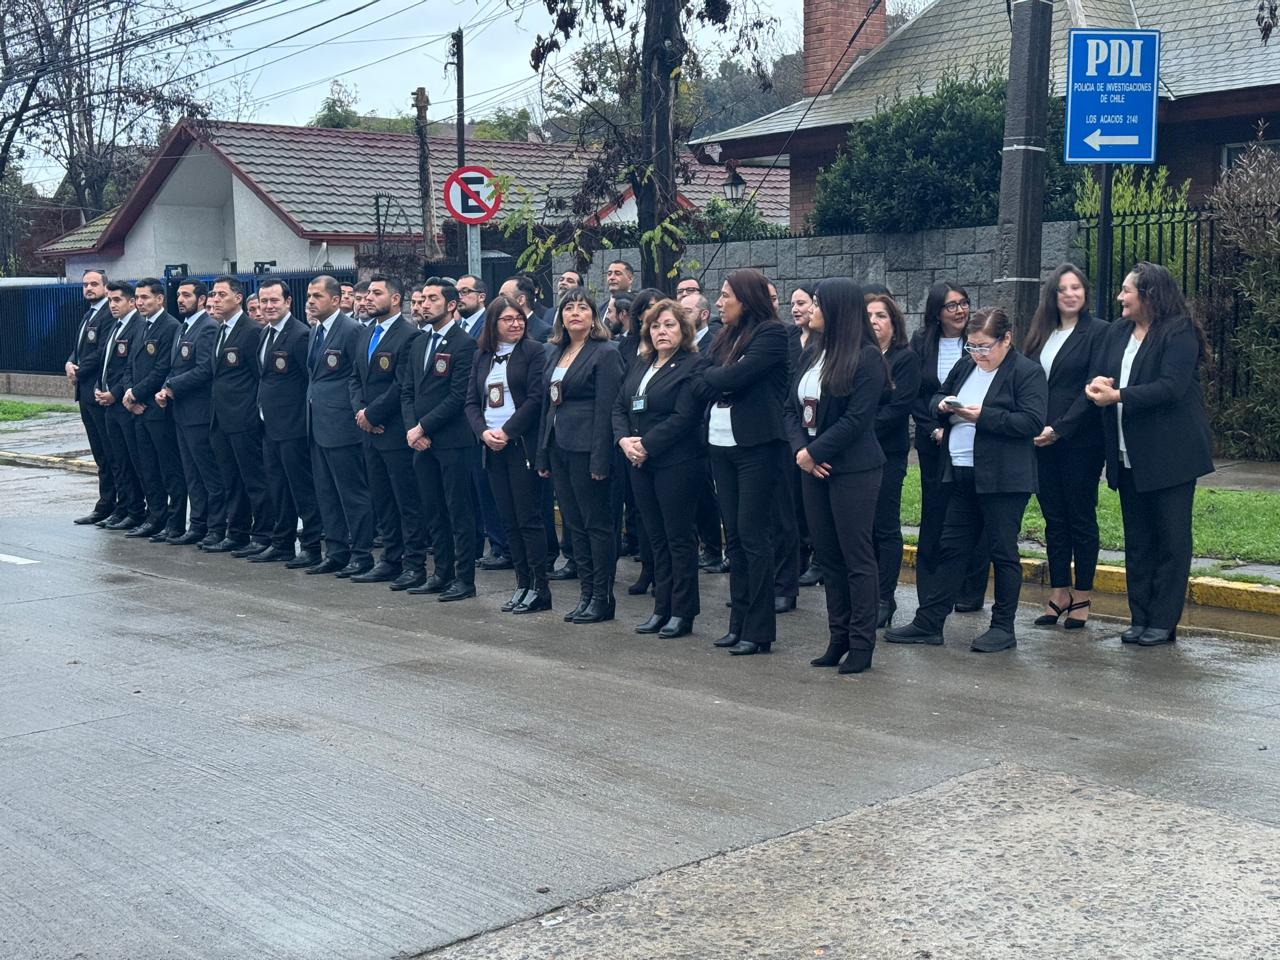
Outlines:
{"label": "man in dark suit with bright blue tie", "polygon": [[360,338],[351,387],[356,426],[364,431],[369,493],[383,531],[381,559],[351,581],[390,581],[392,590],[426,582],[426,521],[396,383],[401,358],[422,334],[401,316],[403,289],[392,276],[374,274],[369,279],[365,302],[370,325]]}

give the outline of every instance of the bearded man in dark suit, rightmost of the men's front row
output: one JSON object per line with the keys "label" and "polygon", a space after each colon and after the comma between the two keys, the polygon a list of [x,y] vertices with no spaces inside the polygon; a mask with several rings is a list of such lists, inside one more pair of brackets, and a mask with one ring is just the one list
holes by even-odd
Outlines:
{"label": "bearded man in dark suit, rightmost of the men's front row", "polygon": [[415,451],[413,472],[435,547],[435,572],[415,593],[462,600],[476,595],[471,466],[479,451],[463,410],[476,343],[457,323],[457,287],[433,276],[422,294],[429,328],[403,352],[397,372],[406,440]]}

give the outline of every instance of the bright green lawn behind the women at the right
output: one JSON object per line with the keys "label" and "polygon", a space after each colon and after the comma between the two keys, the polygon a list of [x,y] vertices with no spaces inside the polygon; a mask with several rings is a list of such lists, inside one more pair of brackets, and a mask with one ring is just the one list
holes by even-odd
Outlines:
{"label": "bright green lawn behind the women at the right", "polygon": [[[902,522],[920,522],[920,471],[908,468],[902,484]],[[1102,548],[1124,549],[1120,495],[1101,485],[1098,532]],[[1192,515],[1193,552],[1197,557],[1247,563],[1280,563],[1280,494],[1257,490],[1196,490]],[[1044,517],[1033,497],[1023,517],[1023,538],[1044,543]]]}

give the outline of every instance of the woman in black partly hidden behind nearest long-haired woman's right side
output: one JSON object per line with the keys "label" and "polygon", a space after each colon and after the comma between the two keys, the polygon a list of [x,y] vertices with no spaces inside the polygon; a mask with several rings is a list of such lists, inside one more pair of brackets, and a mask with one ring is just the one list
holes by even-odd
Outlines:
{"label": "woman in black partly hidden behind nearest long-haired woman's right side", "polygon": [[911,404],[920,389],[920,357],[906,346],[906,317],[888,293],[867,296],[867,317],[888,364],[888,383],[876,411],[876,439],[884,452],[884,472],[876,498],[876,566],[879,604],[876,628],[891,626],[895,590],[902,572],[902,480],[911,447]]}

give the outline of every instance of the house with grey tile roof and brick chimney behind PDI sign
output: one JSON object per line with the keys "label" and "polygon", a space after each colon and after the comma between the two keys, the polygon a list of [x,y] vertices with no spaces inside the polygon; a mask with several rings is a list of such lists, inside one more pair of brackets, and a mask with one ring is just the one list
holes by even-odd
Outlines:
{"label": "house with grey tile roof and brick chimney behind PDI sign", "polygon": [[[828,32],[842,31],[847,37],[860,19],[861,5],[844,4],[844,20],[835,23],[831,3],[806,0],[806,24],[812,17],[827,18]],[[1171,179],[1189,178],[1193,198],[1212,188],[1231,148],[1253,138],[1260,119],[1272,124],[1280,120],[1280,58],[1260,44],[1247,4],[1059,0],[1053,6],[1050,68],[1057,96],[1065,91],[1066,32],[1071,27],[1162,32],[1157,163],[1169,166]],[[808,60],[808,26],[805,42]],[[847,69],[837,69],[838,79],[831,88],[806,84],[804,100],[691,146],[714,163],[787,152],[791,225],[799,229],[813,210],[817,174],[835,159],[851,124],[874,115],[896,96],[932,92],[947,72],[986,65],[1005,69],[1007,56],[1005,4],[934,0]],[[827,63],[836,67],[833,60]],[[822,73],[824,65],[815,64],[817,72]]]}

